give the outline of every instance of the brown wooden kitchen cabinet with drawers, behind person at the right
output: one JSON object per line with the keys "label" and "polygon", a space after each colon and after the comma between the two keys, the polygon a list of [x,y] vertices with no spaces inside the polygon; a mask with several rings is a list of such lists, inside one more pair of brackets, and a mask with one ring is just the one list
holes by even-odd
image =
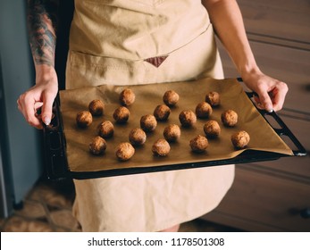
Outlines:
{"label": "brown wooden kitchen cabinet with drawers, behind person at the right", "polygon": [[[310,5],[306,0],[238,1],[262,71],[289,93],[281,119],[308,155],[236,166],[227,196],[202,218],[247,231],[310,231]],[[220,46],[225,77],[238,76]]]}

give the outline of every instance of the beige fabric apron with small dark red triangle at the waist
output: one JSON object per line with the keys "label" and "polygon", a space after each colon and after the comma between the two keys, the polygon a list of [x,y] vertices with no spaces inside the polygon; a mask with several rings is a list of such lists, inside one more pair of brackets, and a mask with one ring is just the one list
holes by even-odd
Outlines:
{"label": "beige fabric apron with small dark red triangle at the waist", "polygon": [[[199,0],[76,0],[67,88],[221,79]],[[74,180],[84,231],[157,231],[213,210],[234,166]]]}

